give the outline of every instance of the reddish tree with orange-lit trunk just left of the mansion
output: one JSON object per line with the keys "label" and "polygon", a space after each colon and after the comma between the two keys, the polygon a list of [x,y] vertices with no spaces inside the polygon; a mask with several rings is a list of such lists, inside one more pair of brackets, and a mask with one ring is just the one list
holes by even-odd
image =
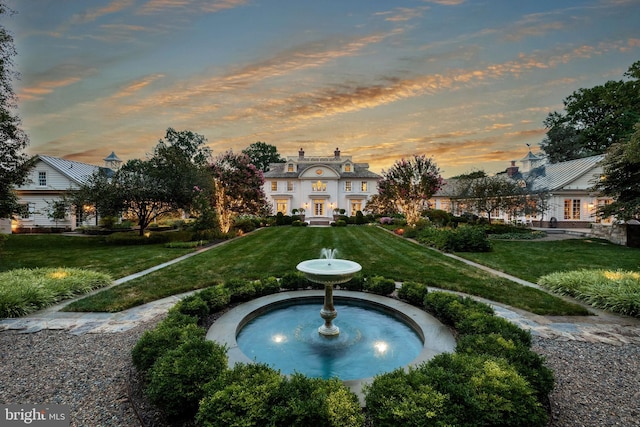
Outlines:
{"label": "reddish tree with orange-lit trunk just left of the mansion", "polygon": [[236,215],[264,215],[268,212],[262,188],[264,176],[249,156],[229,150],[215,158],[210,172],[214,185],[213,205],[220,231],[229,232]]}

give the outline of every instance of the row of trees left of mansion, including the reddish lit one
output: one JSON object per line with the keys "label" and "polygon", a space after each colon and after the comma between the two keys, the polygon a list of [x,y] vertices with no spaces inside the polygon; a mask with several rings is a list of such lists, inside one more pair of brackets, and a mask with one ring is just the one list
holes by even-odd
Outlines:
{"label": "row of trees left of mansion, including the reddish lit one", "polygon": [[148,159],[129,160],[116,171],[100,169],[68,203],[96,219],[132,219],[140,235],[154,221],[178,213],[197,218],[198,229],[223,233],[237,215],[265,214],[262,171],[246,154],[227,151],[214,158],[206,142],[195,132],[169,128]]}

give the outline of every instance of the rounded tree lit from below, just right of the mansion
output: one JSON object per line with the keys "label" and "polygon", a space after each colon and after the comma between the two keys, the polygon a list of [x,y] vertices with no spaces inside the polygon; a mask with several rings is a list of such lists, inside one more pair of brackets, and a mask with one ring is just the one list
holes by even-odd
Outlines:
{"label": "rounded tree lit from below, just right of the mansion", "polygon": [[440,169],[433,159],[414,155],[398,160],[382,172],[378,194],[405,215],[409,225],[415,225],[429,207],[429,198],[442,186]]}

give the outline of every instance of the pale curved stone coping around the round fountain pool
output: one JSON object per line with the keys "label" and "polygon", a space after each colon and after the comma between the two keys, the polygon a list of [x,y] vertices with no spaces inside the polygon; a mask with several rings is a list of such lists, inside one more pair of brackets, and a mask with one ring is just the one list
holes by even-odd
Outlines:
{"label": "pale curved stone coping around the round fountain pool", "polygon": [[[455,351],[456,341],[451,331],[424,310],[397,299],[366,292],[335,290],[333,297],[337,303],[340,303],[340,300],[346,300],[372,304],[378,310],[400,318],[411,326],[422,339],[423,347],[418,356],[405,366],[405,369],[408,366],[417,366],[426,362],[437,354],[453,353]],[[236,341],[238,332],[248,321],[266,311],[283,305],[292,305],[303,300],[319,299],[322,301],[323,298],[323,290],[305,290],[279,292],[245,302],[217,319],[207,331],[206,339],[226,345],[229,367],[233,367],[236,363],[254,363],[255,360],[247,357],[240,350]],[[318,310],[320,310],[321,306],[322,304],[320,303]],[[318,321],[321,322],[319,315]],[[373,378],[360,378],[343,382],[358,395],[360,403],[364,405],[362,387],[372,381]]]}

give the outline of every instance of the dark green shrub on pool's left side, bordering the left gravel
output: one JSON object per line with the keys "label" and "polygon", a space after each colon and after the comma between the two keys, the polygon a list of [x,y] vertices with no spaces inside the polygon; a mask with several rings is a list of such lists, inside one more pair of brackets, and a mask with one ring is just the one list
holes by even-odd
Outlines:
{"label": "dark green shrub on pool's left side, bordering the left gravel", "polygon": [[[131,350],[133,365],[143,375],[167,351],[177,348],[180,344],[198,338],[204,338],[206,331],[194,323],[193,317],[182,315],[171,317],[172,321],[163,322],[155,329],[146,331]],[[191,319],[191,320],[189,320]]]}

